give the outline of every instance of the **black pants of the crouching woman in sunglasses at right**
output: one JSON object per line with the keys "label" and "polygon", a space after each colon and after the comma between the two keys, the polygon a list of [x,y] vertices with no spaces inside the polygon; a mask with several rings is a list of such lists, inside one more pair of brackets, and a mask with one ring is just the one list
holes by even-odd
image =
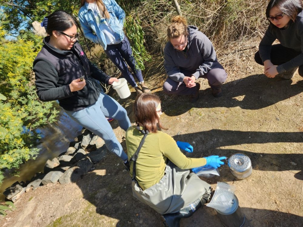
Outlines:
{"label": "black pants of the crouching woman in sunglasses at right", "polygon": [[[297,57],[301,53],[301,51],[295,51],[294,49],[284,47],[281,44],[275,44],[271,46],[271,63],[274,65],[281,65]],[[262,59],[260,58],[259,51],[255,54],[255,61],[260,65],[264,65]],[[299,67],[298,73],[301,77],[303,77],[303,64]]]}

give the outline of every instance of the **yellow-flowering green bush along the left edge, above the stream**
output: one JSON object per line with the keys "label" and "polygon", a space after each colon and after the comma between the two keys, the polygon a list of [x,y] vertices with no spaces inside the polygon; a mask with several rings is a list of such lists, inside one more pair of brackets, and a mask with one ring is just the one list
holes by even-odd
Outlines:
{"label": "yellow-flowering green bush along the left edge, above the stream", "polygon": [[35,92],[32,63],[41,39],[24,33],[15,41],[5,40],[2,25],[0,21],[0,90],[7,99],[0,101],[0,184],[5,169],[18,169],[35,158],[40,135],[34,129],[52,123],[58,113]]}

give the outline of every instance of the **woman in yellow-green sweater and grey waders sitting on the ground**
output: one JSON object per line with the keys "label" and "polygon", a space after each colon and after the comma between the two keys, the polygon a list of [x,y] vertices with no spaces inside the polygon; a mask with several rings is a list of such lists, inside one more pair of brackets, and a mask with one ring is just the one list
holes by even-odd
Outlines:
{"label": "woman in yellow-green sweater and grey waders sitting on the ground", "polygon": [[[136,126],[126,131],[133,195],[162,214],[169,227],[180,226],[181,218],[190,217],[209,202],[211,186],[189,169],[224,163],[225,157],[187,158],[181,151],[193,151],[186,142],[175,141],[159,120],[160,99],[154,94],[140,94],[134,104]],[[137,158],[137,159],[136,159]]]}

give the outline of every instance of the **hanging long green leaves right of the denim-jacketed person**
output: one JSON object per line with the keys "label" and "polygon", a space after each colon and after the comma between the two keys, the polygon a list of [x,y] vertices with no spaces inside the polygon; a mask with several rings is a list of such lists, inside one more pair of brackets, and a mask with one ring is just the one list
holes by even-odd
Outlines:
{"label": "hanging long green leaves right of the denim-jacketed person", "polygon": [[151,61],[151,55],[148,54],[144,46],[144,31],[140,26],[141,21],[138,17],[128,16],[125,18],[125,31],[132,46],[132,52],[136,59],[137,68],[144,70],[144,61]]}

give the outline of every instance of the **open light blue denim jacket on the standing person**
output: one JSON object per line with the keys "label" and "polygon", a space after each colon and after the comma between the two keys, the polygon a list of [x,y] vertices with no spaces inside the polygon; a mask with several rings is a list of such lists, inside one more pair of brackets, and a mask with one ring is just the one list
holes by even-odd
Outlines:
{"label": "open light blue denim jacket on the standing person", "polygon": [[[120,40],[124,38],[123,23],[125,13],[123,9],[115,2],[115,0],[104,0],[103,1],[107,11],[110,15],[108,24],[115,32]],[[84,4],[78,13],[79,21],[84,32],[84,36],[94,43],[100,44],[104,50],[106,50],[105,36],[102,31],[99,30],[96,18],[91,9],[88,9]]]}

